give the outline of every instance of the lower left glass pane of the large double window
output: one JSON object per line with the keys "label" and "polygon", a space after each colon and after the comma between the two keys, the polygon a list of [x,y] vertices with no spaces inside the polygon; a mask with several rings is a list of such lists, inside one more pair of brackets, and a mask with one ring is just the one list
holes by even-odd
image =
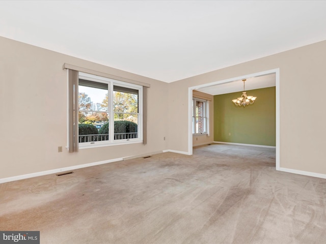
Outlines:
{"label": "lower left glass pane of the large double window", "polygon": [[79,111],[79,142],[108,140],[108,113]]}

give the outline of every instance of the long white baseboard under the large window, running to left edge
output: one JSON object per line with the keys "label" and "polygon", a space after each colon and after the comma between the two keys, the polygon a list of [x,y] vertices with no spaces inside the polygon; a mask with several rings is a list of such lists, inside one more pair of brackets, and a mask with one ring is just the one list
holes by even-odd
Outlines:
{"label": "long white baseboard under the large window, running to left edge", "polygon": [[47,174],[55,174],[55,173],[64,172],[64,171],[87,168],[87,167],[96,166],[96,165],[100,165],[100,164],[113,163],[113,162],[122,161],[122,160],[123,160],[123,158],[117,158],[117,159],[104,160],[104,161],[99,161],[99,162],[94,162],[94,163],[89,163],[89,164],[79,164],[79,165],[65,167],[65,168],[40,171],[40,172],[31,173],[31,174],[17,175],[17,176],[0,179],[0,184],[10,182],[10,181],[20,180],[20,179],[33,178],[33,177],[47,175]]}

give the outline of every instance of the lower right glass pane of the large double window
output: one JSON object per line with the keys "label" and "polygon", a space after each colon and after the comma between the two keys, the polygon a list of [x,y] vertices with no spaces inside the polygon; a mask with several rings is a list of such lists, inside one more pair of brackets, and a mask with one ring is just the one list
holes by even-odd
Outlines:
{"label": "lower right glass pane of the large double window", "polygon": [[138,138],[138,114],[114,114],[114,139]]}

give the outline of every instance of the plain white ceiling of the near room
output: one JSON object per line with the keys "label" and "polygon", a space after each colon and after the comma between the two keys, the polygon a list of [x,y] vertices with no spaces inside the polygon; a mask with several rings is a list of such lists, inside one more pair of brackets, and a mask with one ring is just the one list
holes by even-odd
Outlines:
{"label": "plain white ceiling of the near room", "polygon": [[0,1],[0,36],[173,82],[326,40],[325,10],[326,1]]}

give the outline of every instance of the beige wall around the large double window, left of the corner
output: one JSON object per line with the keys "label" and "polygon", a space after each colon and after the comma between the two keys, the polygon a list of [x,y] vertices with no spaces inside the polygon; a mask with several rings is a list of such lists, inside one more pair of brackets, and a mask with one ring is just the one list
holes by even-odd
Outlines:
{"label": "beige wall around the large double window, left of the corner", "polygon": [[[0,179],[167,149],[168,84],[39,47],[0,38]],[[81,149],[67,146],[64,63],[149,83],[148,141]],[[58,146],[63,146],[58,153]]]}

